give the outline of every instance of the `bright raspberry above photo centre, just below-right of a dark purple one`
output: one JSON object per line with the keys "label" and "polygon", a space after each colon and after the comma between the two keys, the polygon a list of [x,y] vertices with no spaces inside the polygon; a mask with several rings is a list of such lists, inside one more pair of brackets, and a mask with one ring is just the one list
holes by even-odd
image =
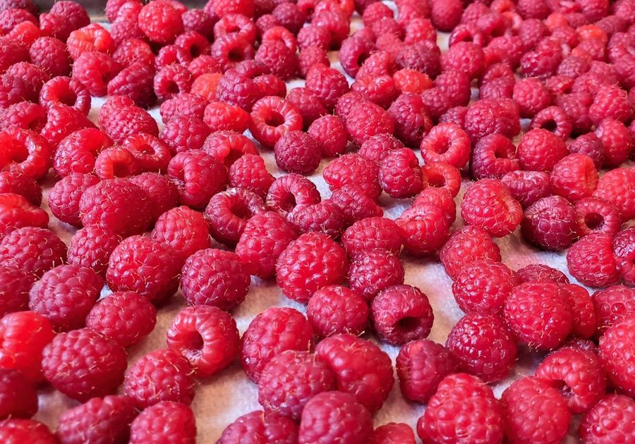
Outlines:
{"label": "bright raspberry above photo centre, just below-right of a dark purple one", "polygon": [[359,154],[344,154],[332,161],[322,172],[329,188],[339,190],[344,185],[355,185],[371,199],[377,199],[382,189],[377,181],[379,168],[375,162]]}

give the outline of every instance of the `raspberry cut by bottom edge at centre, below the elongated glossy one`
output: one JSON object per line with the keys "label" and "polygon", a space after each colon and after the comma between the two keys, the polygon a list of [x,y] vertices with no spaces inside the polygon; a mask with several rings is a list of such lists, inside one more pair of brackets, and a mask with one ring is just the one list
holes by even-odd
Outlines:
{"label": "raspberry cut by bottom edge at centre, below the elongated glossy one", "polygon": [[323,392],[307,402],[300,420],[298,443],[368,443],[373,418],[355,397]]}

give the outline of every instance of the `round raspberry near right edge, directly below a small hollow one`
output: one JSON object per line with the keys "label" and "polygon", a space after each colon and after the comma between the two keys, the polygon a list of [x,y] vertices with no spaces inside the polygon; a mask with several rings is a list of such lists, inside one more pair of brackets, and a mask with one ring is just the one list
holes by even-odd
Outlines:
{"label": "round raspberry near right edge, directly below a small hollow one", "polygon": [[590,287],[607,287],[617,283],[619,270],[611,250],[612,238],[604,233],[587,235],[567,252],[571,276]]}

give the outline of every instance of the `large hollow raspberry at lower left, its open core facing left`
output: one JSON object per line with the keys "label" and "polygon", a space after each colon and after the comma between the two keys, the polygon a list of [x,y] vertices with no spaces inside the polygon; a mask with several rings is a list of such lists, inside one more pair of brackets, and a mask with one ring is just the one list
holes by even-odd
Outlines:
{"label": "large hollow raspberry at lower left, its open core facing left", "polygon": [[183,354],[195,373],[212,376],[238,354],[236,322],[217,307],[186,307],[176,314],[167,331],[167,345]]}

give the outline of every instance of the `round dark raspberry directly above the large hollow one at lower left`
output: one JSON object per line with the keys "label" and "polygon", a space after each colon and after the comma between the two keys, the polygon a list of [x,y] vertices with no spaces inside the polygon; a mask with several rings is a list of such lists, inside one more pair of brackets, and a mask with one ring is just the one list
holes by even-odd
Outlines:
{"label": "round dark raspberry directly above the large hollow one at lower left", "polygon": [[183,297],[192,305],[230,310],[249,290],[248,265],[233,252],[202,249],[188,258],[181,272]]}

